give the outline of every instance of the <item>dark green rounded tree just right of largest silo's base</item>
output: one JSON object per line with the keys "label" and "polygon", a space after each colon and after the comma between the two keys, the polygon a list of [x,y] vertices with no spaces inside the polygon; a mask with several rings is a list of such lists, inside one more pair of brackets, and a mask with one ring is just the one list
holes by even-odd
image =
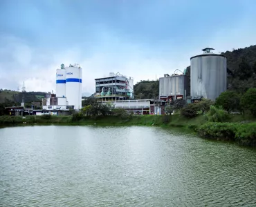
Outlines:
{"label": "dark green rounded tree just right of largest silo's base", "polygon": [[230,112],[231,110],[238,110],[240,103],[240,97],[235,91],[227,90],[226,92],[221,92],[221,95],[217,97],[215,101],[215,106],[221,106],[223,110]]}

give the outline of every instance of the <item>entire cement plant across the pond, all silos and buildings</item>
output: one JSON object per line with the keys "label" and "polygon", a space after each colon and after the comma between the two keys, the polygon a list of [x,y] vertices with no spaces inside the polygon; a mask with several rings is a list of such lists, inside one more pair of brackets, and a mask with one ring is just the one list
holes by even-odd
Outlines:
{"label": "entire cement plant across the pond, all silos and buildings", "polygon": [[[134,78],[110,72],[108,77],[95,78],[91,97],[113,108],[124,108],[135,115],[163,115],[165,107],[176,99],[192,103],[202,98],[216,99],[227,89],[227,59],[204,48],[201,55],[190,58],[190,74],[176,69],[159,78],[159,96],[154,99],[134,99]],[[86,84],[86,83],[84,83]],[[42,110],[10,108],[10,115],[62,115],[82,108],[82,68],[78,64],[60,65],[56,70],[56,92],[42,99]],[[26,113],[25,113],[26,114]]]}

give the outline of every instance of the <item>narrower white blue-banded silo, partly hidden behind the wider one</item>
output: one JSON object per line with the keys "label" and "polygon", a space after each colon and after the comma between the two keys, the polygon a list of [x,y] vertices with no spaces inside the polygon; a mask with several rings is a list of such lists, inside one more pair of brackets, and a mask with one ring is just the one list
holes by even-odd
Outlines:
{"label": "narrower white blue-banded silo, partly hidden behind the wider one", "polygon": [[56,97],[66,97],[66,70],[56,70]]}

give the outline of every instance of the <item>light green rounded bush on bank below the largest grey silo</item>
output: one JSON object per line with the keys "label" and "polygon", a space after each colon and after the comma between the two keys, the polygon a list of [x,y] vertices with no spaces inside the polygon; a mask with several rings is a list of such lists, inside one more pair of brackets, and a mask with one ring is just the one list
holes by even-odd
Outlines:
{"label": "light green rounded bush on bank below the largest grey silo", "polygon": [[206,114],[206,118],[210,122],[225,122],[230,119],[230,116],[226,110],[222,110],[221,108],[217,108],[215,106],[210,106],[210,110]]}

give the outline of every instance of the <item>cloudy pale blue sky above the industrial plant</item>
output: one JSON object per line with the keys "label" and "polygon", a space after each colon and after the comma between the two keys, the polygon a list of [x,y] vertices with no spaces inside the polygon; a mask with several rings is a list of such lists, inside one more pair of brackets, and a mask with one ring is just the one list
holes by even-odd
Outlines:
{"label": "cloudy pale blue sky above the industrial plant", "polygon": [[55,91],[79,63],[82,92],[120,72],[155,80],[215,52],[256,43],[255,0],[0,0],[0,88]]}

